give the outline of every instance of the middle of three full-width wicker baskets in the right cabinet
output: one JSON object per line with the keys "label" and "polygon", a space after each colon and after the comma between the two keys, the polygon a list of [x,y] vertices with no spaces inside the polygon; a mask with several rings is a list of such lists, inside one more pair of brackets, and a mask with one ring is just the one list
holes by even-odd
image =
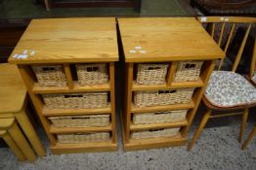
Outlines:
{"label": "middle of three full-width wicker baskets in the right cabinet", "polygon": [[188,110],[134,114],[134,124],[151,124],[158,122],[174,122],[186,119]]}

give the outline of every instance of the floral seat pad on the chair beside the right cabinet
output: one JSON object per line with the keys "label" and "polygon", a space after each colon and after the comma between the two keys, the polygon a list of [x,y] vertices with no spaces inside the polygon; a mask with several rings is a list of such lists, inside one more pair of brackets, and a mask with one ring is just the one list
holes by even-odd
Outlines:
{"label": "floral seat pad on the chair beside the right cabinet", "polygon": [[256,103],[256,88],[241,75],[228,71],[214,71],[204,95],[217,107]]}

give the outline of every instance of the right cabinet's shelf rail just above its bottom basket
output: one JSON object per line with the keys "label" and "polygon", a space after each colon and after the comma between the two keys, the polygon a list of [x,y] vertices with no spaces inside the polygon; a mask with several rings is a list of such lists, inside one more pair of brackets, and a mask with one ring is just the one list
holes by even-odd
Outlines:
{"label": "right cabinet's shelf rail just above its bottom basket", "polygon": [[158,122],[152,124],[131,124],[130,129],[134,130],[147,130],[147,129],[156,129],[156,128],[168,128],[168,127],[181,127],[188,125],[187,119],[176,122]]}

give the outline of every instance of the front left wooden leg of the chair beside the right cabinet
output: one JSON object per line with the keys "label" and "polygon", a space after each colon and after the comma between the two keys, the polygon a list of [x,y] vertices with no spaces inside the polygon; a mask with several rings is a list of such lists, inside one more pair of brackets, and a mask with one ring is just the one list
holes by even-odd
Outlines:
{"label": "front left wooden leg of the chair beside the right cabinet", "polygon": [[201,131],[202,131],[204,125],[206,124],[206,122],[208,121],[208,119],[209,119],[210,116],[211,116],[211,113],[212,113],[212,110],[207,110],[207,112],[204,114],[204,116],[203,116],[203,118],[202,118],[202,120],[201,120],[201,122],[200,122],[198,128],[196,129],[196,131],[195,131],[195,133],[194,133],[194,135],[193,135],[193,137],[192,137],[192,141],[191,141],[191,143],[190,143],[189,146],[188,146],[188,152],[190,152],[190,151],[192,150],[192,147],[193,147],[195,141],[196,141],[196,140],[198,139],[198,137],[200,136]]}

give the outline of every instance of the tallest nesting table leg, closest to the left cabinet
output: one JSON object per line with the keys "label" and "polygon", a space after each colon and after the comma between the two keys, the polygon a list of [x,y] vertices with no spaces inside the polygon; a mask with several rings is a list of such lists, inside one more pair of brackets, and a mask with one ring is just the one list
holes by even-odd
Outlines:
{"label": "tallest nesting table leg, closest to the left cabinet", "polygon": [[30,120],[28,119],[25,110],[22,109],[20,113],[15,114],[16,119],[18,120],[19,124],[21,125],[21,128],[26,135],[27,139],[30,141],[30,144],[32,148],[34,149],[35,153],[37,153],[39,156],[44,156],[45,150],[42,146],[42,143],[40,142],[40,139],[38,138],[38,135],[36,134]]}

